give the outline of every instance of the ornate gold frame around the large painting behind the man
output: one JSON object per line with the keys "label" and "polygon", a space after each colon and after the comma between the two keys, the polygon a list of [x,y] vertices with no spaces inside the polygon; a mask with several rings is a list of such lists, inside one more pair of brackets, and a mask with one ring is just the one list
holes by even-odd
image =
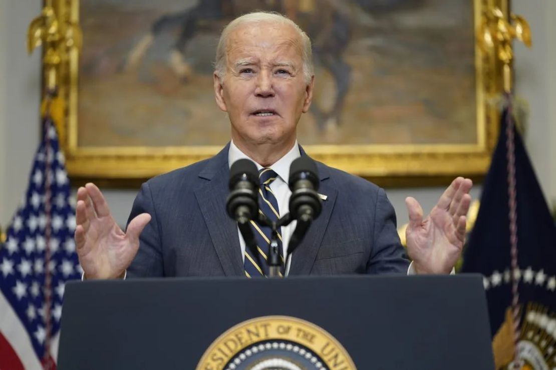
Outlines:
{"label": "ornate gold frame around the large painting behind the man", "polygon": [[[471,1],[471,0],[470,0]],[[499,7],[508,14],[508,0],[472,0],[475,36],[487,9]],[[79,23],[78,0],[53,0],[59,22]],[[208,158],[220,146],[196,147],[80,147],[78,145],[78,51],[58,71],[58,96],[64,110],[57,122],[69,175],[77,182],[93,179],[115,186],[135,184],[172,169]],[[499,112],[488,103],[503,91],[502,66],[494,52],[481,51],[475,42],[476,142],[473,144],[373,144],[309,145],[307,153],[317,161],[369,178],[382,186],[430,184],[453,176],[480,177],[490,163],[498,136]],[[215,108],[216,109],[216,108]],[[435,180],[436,179],[436,180]]]}

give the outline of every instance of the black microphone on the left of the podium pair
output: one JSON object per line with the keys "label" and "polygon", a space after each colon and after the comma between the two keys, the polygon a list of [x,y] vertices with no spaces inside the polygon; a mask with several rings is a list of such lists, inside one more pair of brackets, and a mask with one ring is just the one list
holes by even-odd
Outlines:
{"label": "black microphone on the left of the podium pair", "polygon": [[228,215],[239,224],[246,224],[259,212],[259,172],[249,159],[239,159],[230,168],[231,193],[226,201]]}

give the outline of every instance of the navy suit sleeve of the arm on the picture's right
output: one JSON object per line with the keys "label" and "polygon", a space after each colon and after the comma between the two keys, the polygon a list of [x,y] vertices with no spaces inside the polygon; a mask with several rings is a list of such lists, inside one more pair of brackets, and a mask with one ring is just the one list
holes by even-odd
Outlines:
{"label": "navy suit sleeve of the arm on the picture's right", "polygon": [[367,263],[367,273],[406,274],[408,272],[409,261],[405,257],[405,249],[401,245],[396,230],[396,213],[382,188],[376,195],[375,219],[371,239],[373,246]]}

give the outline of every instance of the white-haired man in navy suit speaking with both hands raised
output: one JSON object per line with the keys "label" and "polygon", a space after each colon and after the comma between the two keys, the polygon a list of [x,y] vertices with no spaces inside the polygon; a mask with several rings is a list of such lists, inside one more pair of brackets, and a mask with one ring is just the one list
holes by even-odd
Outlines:
{"label": "white-haired man in navy suit speaking with both hands raised", "polygon": [[[254,161],[259,201],[276,216],[286,214],[290,164],[306,155],[296,141],[297,123],[309,111],[313,84],[311,42],[290,19],[257,12],[228,24],[216,51],[214,91],[230,118],[230,143],[215,157],[144,183],[126,232],[95,184],[79,188],[75,239],[85,278],[265,276],[266,246],[252,254],[226,214],[230,166],[240,158]],[[286,274],[451,271],[464,244],[470,179],[456,178],[427,217],[414,198],[406,199],[410,265],[384,190],[317,167],[322,213],[283,262]],[[267,240],[256,222],[252,228]],[[292,232],[291,224],[279,231],[282,256]]]}

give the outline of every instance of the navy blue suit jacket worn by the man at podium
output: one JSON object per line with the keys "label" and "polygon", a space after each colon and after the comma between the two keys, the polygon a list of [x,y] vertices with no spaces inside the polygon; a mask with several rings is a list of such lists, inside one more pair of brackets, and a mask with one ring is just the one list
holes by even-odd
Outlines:
{"label": "navy blue suit jacket worn by the man at podium", "polygon": [[[143,212],[152,219],[128,277],[245,276],[237,224],[226,213],[228,149],[142,185],[130,219]],[[317,167],[319,193],[327,199],[292,255],[290,275],[406,273],[409,262],[384,190],[320,162]]]}

